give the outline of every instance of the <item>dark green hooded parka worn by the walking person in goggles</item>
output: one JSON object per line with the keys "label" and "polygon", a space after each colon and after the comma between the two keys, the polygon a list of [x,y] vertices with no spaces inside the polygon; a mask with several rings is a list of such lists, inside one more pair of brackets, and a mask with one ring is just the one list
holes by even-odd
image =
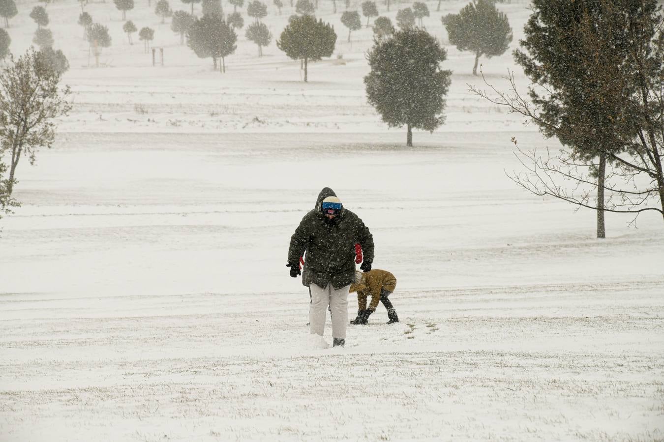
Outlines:
{"label": "dark green hooded parka worn by the walking person in goggles", "polygon": [[362,246],[365,261],[373,261],[374,245],[369,228],[360,217],[343,207],[332,220],[321,213],[321,203],[329,196],[337,196],[330,188],[323,188],[316,205],[309,211],[291,236],[288,248],[289,264],[304,257],[302,284],[313,283],[325,288],[328,282],[335,289],[348,286],[355,280],[355,244]]}

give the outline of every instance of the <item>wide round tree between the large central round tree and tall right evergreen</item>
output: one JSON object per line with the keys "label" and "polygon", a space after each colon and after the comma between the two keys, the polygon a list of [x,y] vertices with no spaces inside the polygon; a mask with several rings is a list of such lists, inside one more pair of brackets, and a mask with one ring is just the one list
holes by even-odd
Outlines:
{"label": "wide round tree between the large central round tree and tall right evergreen", "polygon": [[475,54],[473,75],[477,75],[479,57],[504,54],[512,41],[507,16],[496,9],[492,0],[473,0],[446,21],[450,43],[458,50]]}

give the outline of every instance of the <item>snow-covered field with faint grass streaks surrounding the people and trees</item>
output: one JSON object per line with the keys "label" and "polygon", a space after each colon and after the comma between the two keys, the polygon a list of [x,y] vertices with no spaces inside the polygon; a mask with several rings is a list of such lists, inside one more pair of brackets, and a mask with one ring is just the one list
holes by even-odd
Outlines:
{"label": "snow-covered field with faint grass streaks surrounding the people and trees", "polygon": [[[608,213],[598,240],[594,212],[519,190],[511,138],[557,146],[469,94],[471,54],[447,46],[448,121],[406,148],[365,99],[371,28],[347,43],[331,5],[337,53],[303,83],[243,31],[213,72],[142,3],[127,18],[157,29],[163,67],[111,2],[87,7],[115,32],[88,67],[80,8],[48,5],[74,109],[0,221],[0,441],[664,440],[661,217]],[[437,4],[446,42],[440,15],[465,2]],[[529,11],[500,7],[515,48]],[[278,35],[291,8],[268,8]],[[504,85],[511,56],[482,62]],[[286,268],[325,186],[398,278],[401,322],[380,305],[343,349],[309,339]]]}

